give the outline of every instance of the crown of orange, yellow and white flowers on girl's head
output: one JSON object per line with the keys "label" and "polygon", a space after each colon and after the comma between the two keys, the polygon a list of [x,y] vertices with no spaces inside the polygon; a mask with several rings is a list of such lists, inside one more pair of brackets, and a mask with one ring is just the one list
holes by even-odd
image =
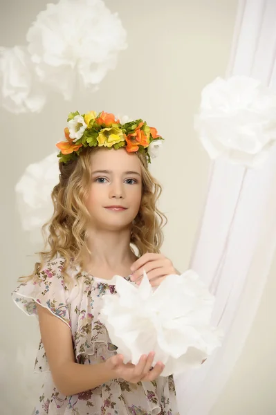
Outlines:
{"label": "crown of orange, yellow and white flowers on girl's head", "polygon": [[90,111],[82,116],[76,111],[69,114],[67,122],[68,127],[64,129],[66,141],[57,143],[60,150],[57,157],[61,163],[75,160],[84,147],[125,147],[129,153],[144,153],[150,163],[151,157],[157,156],[158,148],[163,144],[163,138],[147,122],[134,120],[121,124],[113,114],[104,111]]}

